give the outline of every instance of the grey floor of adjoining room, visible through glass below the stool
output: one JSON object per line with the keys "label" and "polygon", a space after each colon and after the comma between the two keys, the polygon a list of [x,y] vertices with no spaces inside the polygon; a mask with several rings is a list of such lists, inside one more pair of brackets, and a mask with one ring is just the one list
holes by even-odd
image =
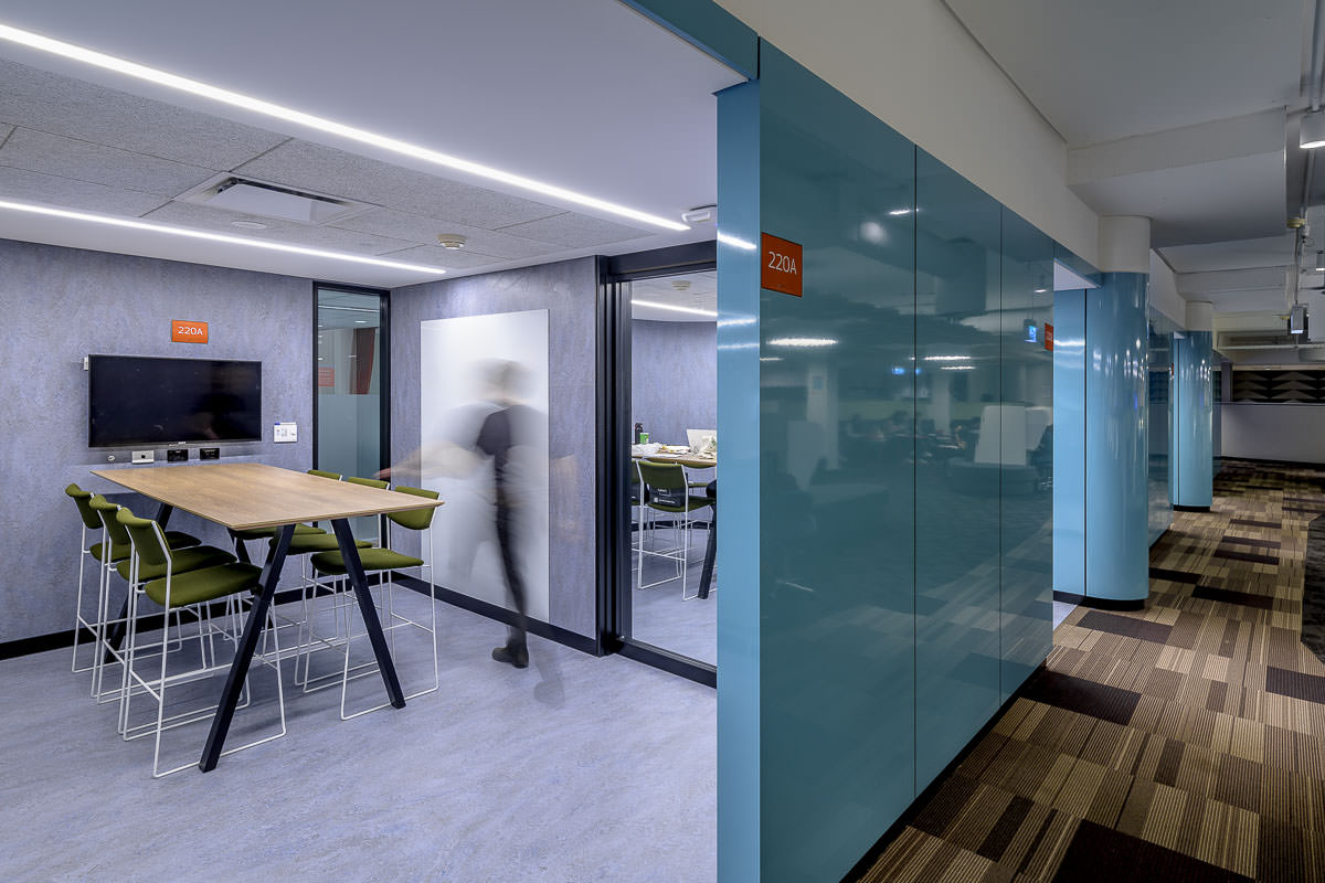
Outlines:
{"label": "grey floor of adjoining room, visible through glass below the stool", "polygon": [[[632,535],[636,536],[636,535]],[[686,594],[700,590],[704,569],[704,549],[709,532],[701,527],[692,530],[690,551],[685,575]],[[662,528],[645,535],[645,548],[668,548],[676,543],[673,531]],[[639,567],[639,555],[631,560]],[[632,571],[632,575],[636,572]],[[631,635],[664,650],[717,665],[718,662],[718,576],[714,573],[708,598],[681,600],[681,580],[674,577],[676,564],[666,559],[645,556],[644,582],[659,582],[631,593]],[[666,580],[666,581],[662,581]]]}

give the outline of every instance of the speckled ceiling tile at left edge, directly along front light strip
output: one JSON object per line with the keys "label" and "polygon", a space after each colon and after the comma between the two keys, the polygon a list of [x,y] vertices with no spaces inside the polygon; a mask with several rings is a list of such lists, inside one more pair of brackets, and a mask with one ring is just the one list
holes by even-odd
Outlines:
{"label": "speckled ceiling tile at left edge, directly along front light strip", "polygon": [[0,120],[213,171],[228,171],[286,138],[0,60]]}

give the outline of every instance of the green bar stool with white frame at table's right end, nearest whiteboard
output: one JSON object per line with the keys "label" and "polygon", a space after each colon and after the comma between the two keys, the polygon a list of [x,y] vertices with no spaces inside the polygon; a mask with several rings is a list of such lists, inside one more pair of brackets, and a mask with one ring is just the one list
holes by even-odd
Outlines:
{"label": "green bar stool with white frame at table's right end, nearest whiteboard", "polygon": [[[368,483],[370,479],[362,479],[362,481],[363,481],[363,483]],[[384,482],[383,482],[383,485],[384,485]],[[431,500],[435,500],[435,499],[439,498],[437,491],[427,490],[427,488],[423,488],[423,487],[403,487],[403,486],[396,486],[395,491],[399,492],[399,494],[409,494],[409,495],[413,495],[413,496],[421,496],[424,499],[431,499]],[[436,512],[436,507],[428,507],[428,508],[407,510],[404,512],[388,512],[387,516],[386,516],[386,530],[387,531],[390,531],[390,526],[391,524],[396,524],[396,526],[403,527],[403,528],[405,528],[408,531],[427,532],[427,535],[428,535],[428,559],[427,559],[427,561],[424,559],[415,557],[412,555],[403,555],[400,552],[396,552],[396,551],[394,551],[391,548],[386,548],[386,547],[383,547],[383,548],[370,548],[370,549],[364,549],[363,552],[359,553],[359,560],[363,564],[364,573],[374,573],[375,572],[375,573],[384,575],[384,585],[386,585],[386,590],[387,590],[387,609],[386,609],[386,618],[384,618],[383,630],[391,638],[392,655],[395,655],[395,634],[396,634],[398,629],[401,629],[401,627],[420,629],[420,630],[428,633],[428,635],[429,635],[429,638],[432,641],[432,686],[431,687],[424,687],[424,688],[417,690],[415,692],[411,692],[411,694],[408,694],[405,696],[405,699],[413,699],[415,696],[421,696],[424,694],[433,692],[433,691],[437,690],[437,687],[440,684],[440,675],[439,675],[439,670],[437,670],[437,602],[436,602],[436,585],[433,582],[433,573],[432,573],[432,560],[433,560],[432,531],[429,530],[432,527],[432,518],[433,518],[435,512]],[[383,539],[390,540],[390,532],[384,532],[383,534]],[[350,580],[346,577],[344,556],[342,556],[339,551],[335,551],[335,552],[318,552],[317,555],[314,555],[310,559],[310,561],[313,564],[313,569],[317,571],[319,575],[329,576],[329,577],[335,579],[337,581],[341,581],[346,586],[346,589],[341,594],[342,594],[342,597],[348,597],[348,584],[350,584]],[[417,621],[415,621],[415,620],[412,620],[412,618],[409,618],[409,617],[407,617],[403,613],[400,613],[400,612],[396,610],[396,605],[395,605],[395,601],[394,601],[394,593],[395,593],[395,588],[396,588],[395,586],[394,576],[395,576],[396,571],[404,571],[404,569],[408,569],[408,568],[420,568],[420,572],[424,571],[424,569],[428,571],[427,582],[428,582],[428,614],[429,614],[429,621],[428,621],[427,625],[424,625],[423,622],[417,622]],[[371,589],[370,589],[370,592],[371,592]],[[352,606],[350,605],[348,601],[346,601],[344,604],[346,604],[347,609],[352,609]],[[346,618],[348,621],[350,617],[347,616]],[[358,718],[359,715],[366,715],[370,711],[376,711],[378,708],[386,708],[387,704],[388,704],[388,703],[382,703],[379,706],[374,706],[371,708],[364,708],[364,710],[356,711],[354,714],[346,714],[346,710],[344,710],[346,691],[347,691],[350,680],[352,680],[355,678],[362,678],[366,674],[372,674],[374,671],[376,671],[376,667],[378,667],[376,662],[370,662],[370,663],[364,663],[364,665],[354,666],[354,667],[350,666],[350,641],[351,641],[351,638],[355,638],[355,637],[366,637],[366,634],[367,634],[366,631],[364,633],[359,633],[359,634],[352,634],[348,629],[346,630],[344,663],[343,663],[342,671],[341,671],[341,719],[342,720],[348,720],[350,718]],[[352,675],[351,675],[351,671],[354,671]]]}

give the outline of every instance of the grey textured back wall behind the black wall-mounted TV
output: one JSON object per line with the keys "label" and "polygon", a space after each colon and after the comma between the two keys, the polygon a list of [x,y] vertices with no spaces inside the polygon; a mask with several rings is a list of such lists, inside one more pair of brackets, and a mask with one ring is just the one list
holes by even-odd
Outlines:
{"label": "grey textured back wall behind the black wall-mounted TV", "polygon": [[[223,445],[221,454],[307,469],[311,290],[292,277],[0,240],[0,641],[73,626],[80,522],[62,488],[118,488],[89,474],[106,466],[107,451],[87,447],[82,357],[258,359],[264,441]],[[171,319],[208,322],[211,343],[171,343]],[[272,443],[280,420],[298,421],[297,443]],[[155,514],[135,495],[115,499]],[[227,543],[224,531],[187,512],[171,527]]]}

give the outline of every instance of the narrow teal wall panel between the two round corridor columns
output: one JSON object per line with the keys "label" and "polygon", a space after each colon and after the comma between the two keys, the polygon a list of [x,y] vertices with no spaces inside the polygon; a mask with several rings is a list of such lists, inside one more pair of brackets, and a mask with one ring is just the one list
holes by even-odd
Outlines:
{"label": "narrow teal wall panel between the two round corridor columns", "polygon": [[1146,539],[1154,544],[1173,524],[1173,367],[1177,326],[1158,310],[1147,318],[1146,346]]}

